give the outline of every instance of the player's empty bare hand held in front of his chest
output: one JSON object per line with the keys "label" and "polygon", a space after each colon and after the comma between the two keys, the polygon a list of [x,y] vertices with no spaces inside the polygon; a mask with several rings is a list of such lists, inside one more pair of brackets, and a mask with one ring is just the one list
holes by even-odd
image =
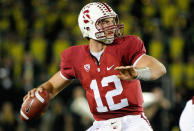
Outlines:
{"label": "player's empty bare hand held in front of his chest", "polygon": [[121,80],[133,80],[137,78],[137,72],[133,66],[119,66],[115,70],[120,72],[120,75],[117,75],[117,77]]}

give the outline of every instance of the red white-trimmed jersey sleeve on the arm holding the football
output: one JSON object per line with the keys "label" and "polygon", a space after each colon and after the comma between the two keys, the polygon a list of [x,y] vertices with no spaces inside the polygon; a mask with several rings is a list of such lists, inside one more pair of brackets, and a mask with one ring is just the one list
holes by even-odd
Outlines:
{"label": "red white-trimmed jersey sleeve on the arm holding the football", "polygon": [[74,63],[71,48],[64,50],[61,54],[60,74],[64,79],[74,79]]}

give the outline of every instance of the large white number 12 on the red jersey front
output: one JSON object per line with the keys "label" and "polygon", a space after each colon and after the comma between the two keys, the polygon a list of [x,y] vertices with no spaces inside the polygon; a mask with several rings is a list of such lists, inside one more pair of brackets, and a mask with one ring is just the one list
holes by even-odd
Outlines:
{"label": "large white number 12 on the red jersey front", "polygon": [[[105,94],[106,97],[106,101],[108,103],[108,107],[111,111],[113,110],[118,110],[121,109],[123,107],[126,107],[129,105],[127,98],[125,99],[121,99],[120,103],[115,104],[113,101],[113,97],[120,95],[123,91],[123,87],[121,85],[121,81],[119,78],[117,78],[116,75],[112,75],[112,76],[108,76],[108,77],[104,77],[101,81],[102,87],[106,87],[108,86],[109,83],[114,82],[116,89],[108,91]],[[94,98],[96,100],[96,104],[97,104],[97,111],[98,112],[107,112],[108,108],[106,106],[103,105],[102,103],[102,99],[100,97],[100,92],[98,89],[98,85],[97,85],[97,81],[96,80],[92,80],[91,84],[90,84],[90,88],[93,90],[94,92]]]}

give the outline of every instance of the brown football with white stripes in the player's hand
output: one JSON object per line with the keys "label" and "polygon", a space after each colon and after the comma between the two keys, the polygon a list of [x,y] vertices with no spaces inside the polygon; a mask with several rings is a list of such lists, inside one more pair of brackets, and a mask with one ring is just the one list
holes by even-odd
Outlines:
{"label": "brown football with white stripes in the player's hand", "polygon": [[28,97],[21,106],[20,118],[24,121],[39,118],[49,105],[49,93],[47,91],[35,92],[34,97]]}

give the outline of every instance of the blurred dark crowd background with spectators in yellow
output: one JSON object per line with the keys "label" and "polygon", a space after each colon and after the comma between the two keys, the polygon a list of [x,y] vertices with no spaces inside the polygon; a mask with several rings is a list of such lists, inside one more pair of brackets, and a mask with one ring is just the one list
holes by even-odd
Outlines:
{"label": "blurred dark crowd background with spectators in yellow", "polygon": [[[23,96],[59,70],[61,52],[88,44],[77,18],[91,1],[0,0],[0,131],[83,131],[92,125],[78,80],[42,118],[19,118]],[[147,54],[165,64],[161,79],[141,81],[145,113],[155,131],[179,131],[180,114],[194,95],[194,0],[99,1],[118,13],[125,35],[139,36]]]}

